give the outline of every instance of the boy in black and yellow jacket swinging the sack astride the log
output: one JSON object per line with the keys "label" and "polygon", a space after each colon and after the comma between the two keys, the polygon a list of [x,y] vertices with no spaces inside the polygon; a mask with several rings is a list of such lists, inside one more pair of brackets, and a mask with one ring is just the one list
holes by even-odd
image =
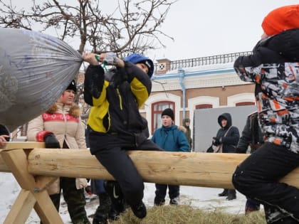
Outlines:
{"label": "boy in black and yellow jacket swinging the sack astride the log", "polygon": [[90,152],[115,178],[105,183],[115,209],[122,212],[125,200],[138,218],[144,218],[144,183],[127,150],[159,150],[147,139],[147,121],[139,112],[150,96],[154,65],[139,54],[121,60],[115,53],[103,53],[100,61],[116,67],[104,73],[96,56],[83,55],[90,63],[84,81],[85,102],[93,106],[88,118]]}

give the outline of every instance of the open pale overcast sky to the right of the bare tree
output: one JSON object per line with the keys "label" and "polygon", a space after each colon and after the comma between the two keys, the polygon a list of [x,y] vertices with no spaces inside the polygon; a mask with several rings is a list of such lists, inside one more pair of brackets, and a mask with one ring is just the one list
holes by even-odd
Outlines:
{"label": "open pale overcast sky to the right of the bare tree", "polygon": [[154,59],[180,60],[252,50],[261,38],[268,12],[298,0],[179,0],[169,11],[162,30],[172,40],[153,50]]}

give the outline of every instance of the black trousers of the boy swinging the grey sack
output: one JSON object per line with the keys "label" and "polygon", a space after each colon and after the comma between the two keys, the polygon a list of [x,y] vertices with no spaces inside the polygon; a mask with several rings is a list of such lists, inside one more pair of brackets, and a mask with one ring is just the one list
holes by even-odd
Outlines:
{"label": "black trousers of the boy swinging the grey sack", "polygon": [[[92,141],[90,141],[90,146],[93,146]],[[159,150],[159,146],[156,146],[149,139],[138,146],[138,148],[140,148],[139,150]],[[115,146],[109,149],[98,149],[95,156],[120,185],[127,204],[135,206],[140,203],[145,186],[132,159],[127,155],[127,151],[122,149],[122,147]]]}

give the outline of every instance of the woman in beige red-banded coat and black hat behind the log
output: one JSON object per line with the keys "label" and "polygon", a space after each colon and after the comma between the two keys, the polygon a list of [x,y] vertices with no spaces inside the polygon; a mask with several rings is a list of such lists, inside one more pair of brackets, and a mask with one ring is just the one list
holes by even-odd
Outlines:
{"label": "woman in beige red-banded coat and black hat behind the log", "polygon": [[[85,149],[85,130],[80,119],[80,108],[74,104],[76,92],[73,80],[57,102],[28,124],[28,141],[45,142],[46,148]],[[85,211],[85,178],[61,177],[48,187],[48,193],[59,210],[61,190],[74,224],[89,224]]]}

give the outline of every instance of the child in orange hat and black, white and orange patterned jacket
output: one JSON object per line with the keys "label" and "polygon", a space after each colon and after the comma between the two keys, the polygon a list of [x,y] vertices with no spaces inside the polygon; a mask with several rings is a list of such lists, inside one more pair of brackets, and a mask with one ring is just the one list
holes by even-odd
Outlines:
{"label": "child in orange hat and black, white and orange patterned jacket", "polygon": [[299,5],[271,11],[262,28],[253,55],[237,58],[234,68],[241,80],[256,83],[266,143],[236,168],[233,183],[263,203],[267,223],[299,223],[299,190],[279,182],[299,166]]}

